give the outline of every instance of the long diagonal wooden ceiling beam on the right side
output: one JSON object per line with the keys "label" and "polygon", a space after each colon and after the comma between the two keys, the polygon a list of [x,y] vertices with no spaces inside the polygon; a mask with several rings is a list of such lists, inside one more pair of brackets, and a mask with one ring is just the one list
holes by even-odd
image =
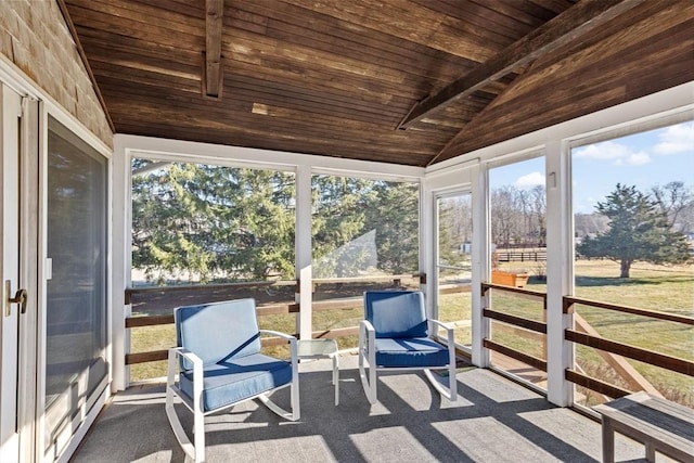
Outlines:
{"label": "long diagonal wooden ceiling beam on the right side", "polygon": [[550,20],[498,55],[479,64],[464,77],[449,83],[437,93],[415,103],[398,125],[407,129],[430,113],[454,100],[467,97],[519,66],[569,43],[608,21],[641,4],[644,0],[581,0],[564,13]]}

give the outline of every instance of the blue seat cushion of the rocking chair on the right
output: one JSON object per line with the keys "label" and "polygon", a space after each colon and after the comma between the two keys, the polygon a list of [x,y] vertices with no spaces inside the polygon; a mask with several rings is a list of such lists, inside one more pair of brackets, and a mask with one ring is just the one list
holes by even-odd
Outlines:
{"label": "blue seat cushion of the rocking chair on the right", "polygon": [[446,366],[448,358],[448,348],[428,337],[376,338],[377,366]]}

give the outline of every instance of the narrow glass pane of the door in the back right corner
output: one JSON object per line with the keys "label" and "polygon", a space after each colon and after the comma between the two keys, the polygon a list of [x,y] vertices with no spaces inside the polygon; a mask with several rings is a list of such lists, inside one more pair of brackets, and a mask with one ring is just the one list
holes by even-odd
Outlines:
{"label": "narrow glass pane of the door in the back right corner", "polygon": [[472,344],[472,194],[436,198],[437,318],[455,327],[455,344]]}

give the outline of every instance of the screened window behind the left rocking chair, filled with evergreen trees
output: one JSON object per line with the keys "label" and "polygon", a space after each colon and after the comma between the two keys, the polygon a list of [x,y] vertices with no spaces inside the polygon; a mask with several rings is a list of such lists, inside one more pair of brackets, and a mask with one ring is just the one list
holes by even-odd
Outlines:
{"label": "screened window behind the left rocking chair, filled with evergreen trees", "polygon": [[[296,332],[294,172],[136,158],[131,178],[133,318],[252,297],[261,329]],[[164,376],[146,355],[175,343],[170,323],[131,329],[130,380]]]}

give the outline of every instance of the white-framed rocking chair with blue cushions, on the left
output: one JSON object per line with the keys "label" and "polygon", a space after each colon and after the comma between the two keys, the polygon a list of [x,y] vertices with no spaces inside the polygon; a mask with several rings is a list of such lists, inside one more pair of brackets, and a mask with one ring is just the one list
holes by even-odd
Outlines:
{"label": "white-framed rocking chair with blue cushions, on the left", "polygon": [[[179,307],[174,317],[178,347],[169,349],[166,414],[191,459],[205,461],[205,416],[236,403],[257,398],[284,419],[299,419],[296,338],[259,330],[254,299]],[[260,353],[260,334],[285,338],[291,361]],[[268,398],[286,386],[292,388],[291,412]],[[194,414],[194,446],[174,409],[175,395]]]}

